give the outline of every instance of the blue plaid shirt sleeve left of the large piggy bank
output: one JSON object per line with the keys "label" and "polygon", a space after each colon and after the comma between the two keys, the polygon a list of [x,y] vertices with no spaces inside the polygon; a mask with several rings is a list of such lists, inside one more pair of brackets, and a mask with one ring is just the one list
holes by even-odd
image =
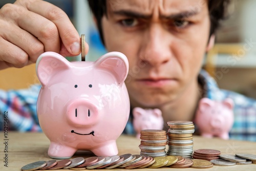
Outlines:
{"label": "blue plaid shirt sleeve left of the large piggy bank", "polygon": [[0,131],[5,123],[9,131],[41,132],[36,114],[40,88],[40,85],[33,85],[29,89],[0,90]]}

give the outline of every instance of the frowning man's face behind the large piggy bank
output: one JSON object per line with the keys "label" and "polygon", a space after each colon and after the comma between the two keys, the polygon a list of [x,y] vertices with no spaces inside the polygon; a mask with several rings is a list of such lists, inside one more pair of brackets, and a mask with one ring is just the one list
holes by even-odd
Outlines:
{"label": "frowning man's face behind the large piggy bank", "polygon": [[210,20],[206,0],[109,0],[102,18],[106,49],[129,60],[132,104],[177,100],[197,81]]}

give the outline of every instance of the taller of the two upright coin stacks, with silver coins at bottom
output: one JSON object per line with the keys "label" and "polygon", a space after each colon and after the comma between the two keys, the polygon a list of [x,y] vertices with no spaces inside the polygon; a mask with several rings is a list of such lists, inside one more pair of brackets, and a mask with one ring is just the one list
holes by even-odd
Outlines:
{"label": "taller of the two upright coin stacks, with silver coins at bottom", "polygon": [[167,144],[169,146],[167,154],[182,156],[191,159],[193,153],[193,133],[195,126],[191,121],[169,121],[167,122]]}

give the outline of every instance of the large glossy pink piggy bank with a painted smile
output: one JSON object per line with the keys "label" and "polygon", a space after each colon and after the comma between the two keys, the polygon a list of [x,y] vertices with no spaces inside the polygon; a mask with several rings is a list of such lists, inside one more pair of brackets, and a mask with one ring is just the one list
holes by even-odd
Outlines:
{"label": "large glossy pink piggy bank with a painted smile", "polygon": [[119,52],[95,62],[69,62],[54,52],[39,56],[37,116],[50,139],[51,158],[70,158],[78,149],[96,156],[118,154],[116,139],[130,114],[124,83],[128,70],[127,58]]}

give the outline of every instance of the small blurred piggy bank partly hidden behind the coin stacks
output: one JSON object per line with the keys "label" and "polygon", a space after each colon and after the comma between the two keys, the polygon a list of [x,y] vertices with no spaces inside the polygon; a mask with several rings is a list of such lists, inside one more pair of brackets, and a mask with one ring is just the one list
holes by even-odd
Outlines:
{"label": "small blurred piggy bank partly hidden behind the coin stacks", "polygon": [[137,138],[140,138],[141,130],[162,130],[163,117],[159,109],[133,109],[133,125]]}

